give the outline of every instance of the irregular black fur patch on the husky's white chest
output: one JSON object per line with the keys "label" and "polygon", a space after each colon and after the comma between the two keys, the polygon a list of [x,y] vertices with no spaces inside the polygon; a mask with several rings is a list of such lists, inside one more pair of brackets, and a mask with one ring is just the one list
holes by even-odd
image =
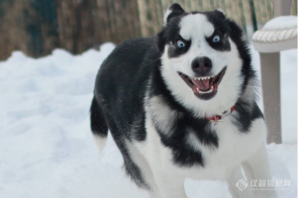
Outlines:
{"label": "irregular black fur patch on the husky's white chest", "polygon": [[[156,125],[157,123],[155,128],[158,131]],[[173,164],[184,167],[204,167],[205,162],[202,152],[189,145],[188,136],[193,133],[197,138],[194,142],[199,141],[210,149],[218,148],[218,136],[208,127],[210,125],[209,121],[184,114],[180,115],[171,125],[167,132],[159,131],[159,135],[162,144],[172,150]],[[171,134],[170,137],[167,134]]]}

